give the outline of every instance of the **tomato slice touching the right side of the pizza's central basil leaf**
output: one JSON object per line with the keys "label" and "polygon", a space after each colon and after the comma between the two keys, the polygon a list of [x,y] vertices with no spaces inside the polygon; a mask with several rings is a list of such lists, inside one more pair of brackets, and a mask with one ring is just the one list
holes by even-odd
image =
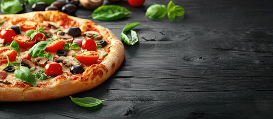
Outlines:
{"label": "tomato slice touching the right side of the pizza's central basil leaf", "polygon": [[47,47],[46,47],[46,52],[50,53],[56,53],[58,50],[63,50],[64,45],[66,44],[65,40],[55,40],[52,41]]}

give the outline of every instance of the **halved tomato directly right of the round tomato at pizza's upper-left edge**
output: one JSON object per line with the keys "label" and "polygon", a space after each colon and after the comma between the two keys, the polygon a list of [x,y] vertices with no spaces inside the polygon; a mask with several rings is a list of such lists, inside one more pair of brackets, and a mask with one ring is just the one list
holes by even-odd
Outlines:
{"label": "halved tomato directly right of the round tomato at pizza's upper-left edge", "polygon": [[12,38],[15,40],[20,48],[30,48],[36,43],[36,39],[29,40],[29,36],[19,34]]}

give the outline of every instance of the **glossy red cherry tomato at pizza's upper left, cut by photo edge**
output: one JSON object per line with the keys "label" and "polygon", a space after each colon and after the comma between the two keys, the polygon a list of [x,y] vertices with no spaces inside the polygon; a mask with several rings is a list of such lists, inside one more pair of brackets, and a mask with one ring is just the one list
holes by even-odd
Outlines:
{"label": "glossy red cherry tomato at pizza's upper left, cut by photo edge", "polygon": [[0,38],[4,39],[4,43],[10,44],[13,36],[16,36],[16,33],[12,29],[6,28],[0,31]]}

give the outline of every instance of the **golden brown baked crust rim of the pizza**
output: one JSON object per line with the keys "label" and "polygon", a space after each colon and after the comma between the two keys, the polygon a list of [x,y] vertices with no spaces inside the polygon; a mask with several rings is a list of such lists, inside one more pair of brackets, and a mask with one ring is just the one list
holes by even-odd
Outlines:
{"label": "golden brown baked crust rim of the pizza", "polygon": [[[0,15],[0,19],[11,19],[13,17],[30,18],[37,13],[44,14],[47,19],[49,19],[47,14],[64,14],[59,11],[38,11],[24,14]],[[33,87],[29,85],[17,86],[9,84],[0,86],[0,101],[40,101],[69,96],[100,85],[118,69],[125,55],[124,46],[121,41],[110,30],[97,25],[91,20],[73,16],[68,16],[68,18],[77,20],[80,27],[85,22],[92,23],[111,44],[108,56],[101,63],[88,67],[83,74],[78,74],[77,76],[57,76],[52,79],[54,81],[50,85]],[[4,26],[7,27],[8,24]]]}

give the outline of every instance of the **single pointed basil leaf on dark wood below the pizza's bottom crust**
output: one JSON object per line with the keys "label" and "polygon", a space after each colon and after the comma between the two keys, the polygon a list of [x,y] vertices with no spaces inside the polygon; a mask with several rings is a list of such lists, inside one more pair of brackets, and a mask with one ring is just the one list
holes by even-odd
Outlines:
{"label": "single pointed basil leaf on dark wood below the pizza's bottom crust", "polygon": [[94,107],[101,104],[103,101],[107,101],[107,100],[99,100],[92,97],[73,98],[70,96],[70,99],[72,100],[72,102],[82,107]]}

